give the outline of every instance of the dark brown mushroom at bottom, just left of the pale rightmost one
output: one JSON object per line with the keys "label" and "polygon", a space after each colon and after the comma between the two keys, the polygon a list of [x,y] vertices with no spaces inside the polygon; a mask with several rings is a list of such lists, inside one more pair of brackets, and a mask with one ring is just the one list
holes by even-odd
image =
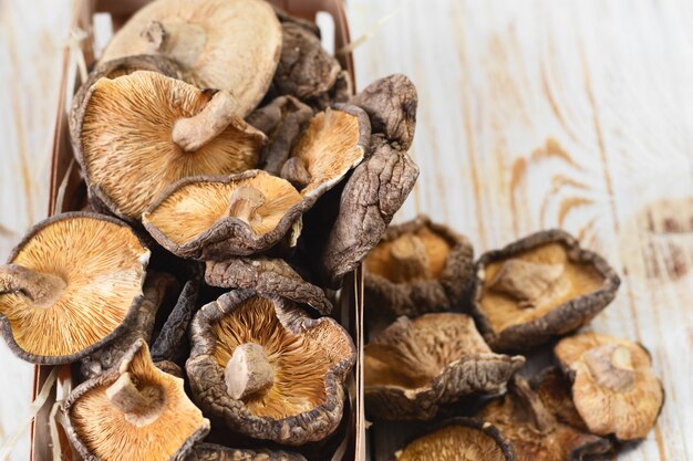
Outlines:
{"label": "dark brown mushroom at bottom, just left of the pale rightmost one", "polygon": [[517,461],[573,461],[611,450],[609,440],[558,421],[519,376],[514,377],[508,392],[489,402],[478,417],[501,431],[515,448]]}

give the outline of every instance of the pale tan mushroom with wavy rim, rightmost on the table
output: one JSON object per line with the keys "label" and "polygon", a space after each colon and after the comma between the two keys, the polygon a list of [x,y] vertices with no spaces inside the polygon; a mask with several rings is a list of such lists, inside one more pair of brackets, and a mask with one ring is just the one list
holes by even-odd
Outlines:
{"label": "pale tan mushroom with wavy rim, rightmost on the table", "polygon": [[650,354],[638,343],[598,333],[561,339],[554,352],[572,377],[572,399],[592,433],[643,439],[664,402]]}

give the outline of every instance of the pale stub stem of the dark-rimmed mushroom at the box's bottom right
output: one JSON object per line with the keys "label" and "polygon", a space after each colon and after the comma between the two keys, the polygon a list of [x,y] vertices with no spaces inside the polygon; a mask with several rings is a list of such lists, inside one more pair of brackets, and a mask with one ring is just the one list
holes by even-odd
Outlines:
{"label": "pale stub stem of the dark-rimmed mushroom at the box's bottom right", "polygon": [[234,349],[224,371],[226,389],[236,400],[269,390],[275,385],[275,369],[265,348],[246,343]]}

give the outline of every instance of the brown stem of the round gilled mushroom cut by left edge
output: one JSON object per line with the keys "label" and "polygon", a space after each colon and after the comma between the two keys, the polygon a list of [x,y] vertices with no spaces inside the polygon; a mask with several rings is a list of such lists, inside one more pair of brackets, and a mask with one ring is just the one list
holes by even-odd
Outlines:
{"label": "brown stem of the round gilled mushroom cut by left edge", "polygon": [[34,304],[48,307],[58,301],[66,286],[58,275],[34,272],[18,264],[0,265],[0,294],[23,295]]}

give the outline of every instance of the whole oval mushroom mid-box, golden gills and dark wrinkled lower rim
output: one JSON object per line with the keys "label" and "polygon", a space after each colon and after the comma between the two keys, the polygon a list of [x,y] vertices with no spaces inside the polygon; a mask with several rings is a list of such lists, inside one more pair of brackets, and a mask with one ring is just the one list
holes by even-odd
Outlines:
{"label": "whole oval mushroom mid-box, golden gills and dark wrinkled lower rim", "polygon": [[[237,193],[259,192],[246,217],[230,207]],[[185,178],[152,203],[142,222],[152,237],[180,258],[225,260],[269,250],[300,230],[307,203],[288,181],[261,170]],[[256,208],[257,207],[257,208]]]}

